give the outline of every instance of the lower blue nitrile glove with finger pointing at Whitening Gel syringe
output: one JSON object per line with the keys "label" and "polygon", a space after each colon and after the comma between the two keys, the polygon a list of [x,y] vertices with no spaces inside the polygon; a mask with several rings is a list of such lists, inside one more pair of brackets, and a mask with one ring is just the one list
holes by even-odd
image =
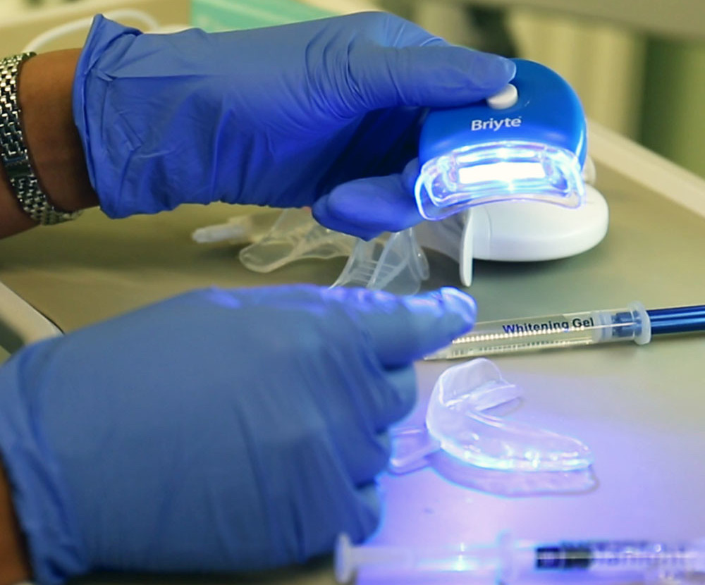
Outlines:
{"label": "lower blue nitrile glove with finger pointing at Whitening Gel syringe", "polygon": [[35,577],[260,569],[369,536],[412,361],[474,316],[450,288],[209,289],[21,350],[0,450]]}

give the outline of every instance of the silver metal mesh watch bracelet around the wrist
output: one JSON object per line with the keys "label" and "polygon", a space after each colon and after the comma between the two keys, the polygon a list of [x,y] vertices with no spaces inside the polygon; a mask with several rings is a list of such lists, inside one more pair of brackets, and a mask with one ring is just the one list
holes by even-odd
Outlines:
{"label": "silver metal mesh watch bracelet around the wrist", "polygon": [[23,53],[0,61],[0,158],[5,174],[20,207],[43,225],[76,218],[80,211],[63,211],[54,207],[39,187],[20,125],[17,99],[17,75],[20,63],[34,56]]}

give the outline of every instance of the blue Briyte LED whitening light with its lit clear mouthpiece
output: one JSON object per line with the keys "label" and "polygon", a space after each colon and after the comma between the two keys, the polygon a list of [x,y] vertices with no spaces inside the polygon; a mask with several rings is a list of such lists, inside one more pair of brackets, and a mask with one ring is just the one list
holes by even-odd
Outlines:
{"label": "blue Briyte LED whitening light with its lit clear mouthpiece", "polygon": [[511,199],[582,204],[587,123],[580,99],[548,67],[513,61],[515,78],[498,94],[429,113],[415,187],[424,218]]}

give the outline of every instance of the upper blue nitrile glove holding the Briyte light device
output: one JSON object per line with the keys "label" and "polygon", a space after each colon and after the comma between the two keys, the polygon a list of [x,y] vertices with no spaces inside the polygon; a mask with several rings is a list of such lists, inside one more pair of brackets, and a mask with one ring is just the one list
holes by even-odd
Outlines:
{"label": "upper blue nitrile glove holding the Briyte light device", "polygon": [[97,17],[73,112],[111,217],[219,200],[313,205],[324,226],[371,238],[421,220],[423,106],[482,99],[514,72],[386,13],[174,35]]}

